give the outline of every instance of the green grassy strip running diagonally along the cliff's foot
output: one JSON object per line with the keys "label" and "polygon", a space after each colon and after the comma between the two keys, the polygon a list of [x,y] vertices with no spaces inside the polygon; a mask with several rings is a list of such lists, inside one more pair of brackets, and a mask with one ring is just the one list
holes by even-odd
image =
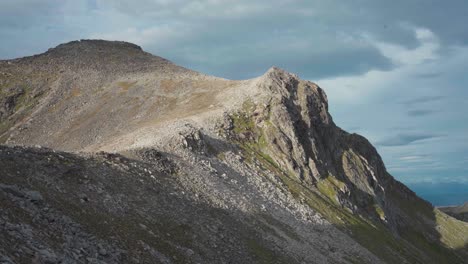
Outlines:
{"label": "green grassy strip running diagonally along the cliff's foot", "polygon": [[[399,263],[401,259],[395,256],[387,247],[397,248],[397,252],[403,251],[398,241],[383,226],[379,229],[373,223],[368,223],[364,218],[353,215],[336,202],[336,190],[343,187],[342,182],[329,176],[318,182],[318,189],[311,189],[301,183],[292,172],[283,170],[274,159],[265,153],[267,149],[258,139],[263,137],[263,131],[254,126],[252,117],[248,112],[238,113],[233,117],[234,133],[249,133],[250,139],[235,140],[243,150],[247,162],[259,161],[264,169],[274,172],[287,187],[289,192],[298,200],[305,201],[311,208],[320,212],[327,220],[350,233],[371,252],[388,260],[390,263]],[[382,229],[382,230],[380,230]]]}

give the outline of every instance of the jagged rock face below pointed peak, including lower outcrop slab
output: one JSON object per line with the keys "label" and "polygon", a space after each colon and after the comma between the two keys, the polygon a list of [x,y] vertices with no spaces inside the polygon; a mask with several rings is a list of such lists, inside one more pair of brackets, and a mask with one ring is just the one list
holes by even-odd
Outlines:
{"label": "jagged rock face below pointed peak, including lower outcrop slab", "polygon": [[258,85],[270,96],[246,101],[242,110],[225,116],[221,134],[267,156],[305,185],[326,182],[327,195],[340,205],[394,224],[399,217],[392,203],[386,204],[386,189],[395,180],[368,140],[334,124],[325,92],[278,68]]}

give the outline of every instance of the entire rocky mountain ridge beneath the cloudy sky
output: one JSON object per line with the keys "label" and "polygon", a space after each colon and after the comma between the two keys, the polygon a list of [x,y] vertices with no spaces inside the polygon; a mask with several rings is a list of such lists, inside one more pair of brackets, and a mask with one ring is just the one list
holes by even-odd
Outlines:
{"label": "entire rocky mountain ridge beneath the cloudy sky", "polygon": [[325,92],[207,76],[125,42],[0,61],[5,263],[468,263]]}

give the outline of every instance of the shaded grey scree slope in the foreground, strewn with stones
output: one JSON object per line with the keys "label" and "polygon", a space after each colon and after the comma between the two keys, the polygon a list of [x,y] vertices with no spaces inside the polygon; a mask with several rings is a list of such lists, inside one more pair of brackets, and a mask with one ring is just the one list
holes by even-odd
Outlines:
{"label": "shaded grey scree slope in the foreground, strewn with stones", "polygon": [[1,147],[0,255],[12,263],[379,262],[252,171],[199,156],[179,159],[171,175],[152,154],[134,155],[145,161]]}

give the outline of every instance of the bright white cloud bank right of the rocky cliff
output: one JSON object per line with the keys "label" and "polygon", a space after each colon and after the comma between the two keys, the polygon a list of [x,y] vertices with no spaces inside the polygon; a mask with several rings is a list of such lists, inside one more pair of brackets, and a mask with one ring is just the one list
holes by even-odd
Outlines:
{"label": "bright white cloud bank right of the rocky cliff", "polygon": [[[466,172],[462,157],[468,146],[468,130],[460,120],[463,119],[462,113],[468,111],[463,99],[468,95],[464,88],[468,78],[463,77],[466,76],[463,69],[468,48],[444,46],[439,37],[427,28],[413,27],[411,30],[418,41],[416,47],[383,42],[369,33],[361,34],[361,39],[348,39],[373,45],[392,60],[395,64],[393,69],[371,70],[361,75],[329,78],[317,83],[328,94],[335,121],[345,125],[359,124],[362,127],[360,132],[371,142],[401,133],[446,135],[419,144],[379,146],[388,170],[400,180],[467,182],[466,175],[460,173]],[[416,103],[417,109],[435,114],[408,115],[408,110],[413,109]]]}

